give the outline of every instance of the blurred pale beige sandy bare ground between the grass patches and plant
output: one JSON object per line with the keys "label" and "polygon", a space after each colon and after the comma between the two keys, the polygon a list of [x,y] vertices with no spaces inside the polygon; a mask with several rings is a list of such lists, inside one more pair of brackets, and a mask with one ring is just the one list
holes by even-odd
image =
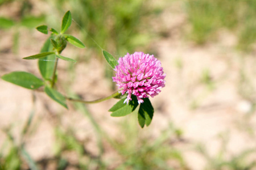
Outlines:
{"label": "blurred pale beige sandy bare ground between the grass patches and plant", "polygon": [[[188,141],[176,147],[183,151],[188,167],[195,170],[203,169],[206,161],[193,147],[196,143],[203,143],[210,155],[214,156],[221,149],[221,140],[218,138],[220,134],[229,136],[226,158],[239,154],[246,148],[255,148],[256,117],[252,112],[255,101],[253,92],[256,87],[253,79],[256,75],[255,53],[238,52],[234,48],[236,37],[225,30],[218,33],[217,42],[204,46],[196,46],[185,40],[181,30],[188,25],[183,11],[180,10],[167,10],[158,22],[162,22],[168,32],[166,38],[154,42],[157,57],[167,74],[166,87],[159,96],[151,100],[156,108],[155,115],[151,125],[141,131],[144,131],[144,134],[153,132],[152,136],[158,137],[161,131],[173,122],[183,130],[183,138]],[[37,53],[46,36],[25,29],[24,32],[20,35],[22,41],[18,55],[9,50],[1,53],[1,75],[19,70],[39,76],[36,62],[23,61],[21,58]],[[0,36],[1,50],[10,49],[11,33],[1,31]],[[36,42],[38,46],[35,47],[34,44],[30,45],[28,40],[40,43]],[[66,56],[71,56],[71,50],[68,50]],[[69,82],[66,80],[69,76],[67,66],[64,61],[59,63],[60,82]],[[84,99],[92,100],[112,93],[109,86],[106,86],[109,82],[104,78],[104,64],[99,59],[91,58],[88,63],[76,63],[71,67],[76,73],[71,89]],[[202,73],[206,69],[209,70],[213,82],[212,88],[201,81]],[[248,82],[241,82],[241,70],[249,78]],[[63,89],[60,90],[64,92]],[[0,80],[0,94],[0,128],[13,124],[13,133],[18,142],[20,129],[32,110],[32,92]],[[94,129],[90,121],[75,111],[71,103],[68,103],[71,109],[66,111],[40,92],[36,92],[35,96],[34,124],[38,124],[38,129],[26,140],[27,150],[34,159],[51,156],[54,139],[52,126],[55,124],[52,117],[60,113],[64,113],[61,117],[63,126],[73,125],[79,138],[93,137],[86,147],[92,152],[97,152],[94,150],[97,147],[94,144]],[[126,118],[109,116],[107,111],[115,102],[113,99],[88,105],[94,118],[111,137],[119,134],[117,123]],[[250,118],[246,119],[246,116]],[[251,133],[248,129],[251,129]],[[5,138],[0,131],[0,146]],[[113,155],[105,156],[113,159]]]}

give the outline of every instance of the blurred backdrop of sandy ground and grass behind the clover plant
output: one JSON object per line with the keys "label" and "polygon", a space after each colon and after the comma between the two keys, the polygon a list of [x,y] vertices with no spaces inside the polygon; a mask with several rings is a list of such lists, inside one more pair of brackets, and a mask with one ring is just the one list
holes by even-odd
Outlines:
{"label": "blurred backdrop of sandy ground and grass behind the clover plant", "polygon": [[85,100],[117,90],[101,54],[154,54],[166,87],[151,99],[151,125],[137,115],[110,117],[118,100],[61,107],[42,92],[0,80],[0,169],[256,169],[255,0],[0,0],[0,76],[27,71],[47,35],[68,45],[59,61],[58,90]]}

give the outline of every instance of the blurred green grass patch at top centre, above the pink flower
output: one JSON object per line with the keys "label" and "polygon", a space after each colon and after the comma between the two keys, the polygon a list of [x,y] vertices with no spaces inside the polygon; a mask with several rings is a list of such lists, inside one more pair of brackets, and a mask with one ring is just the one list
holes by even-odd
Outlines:
{"label": "blurred green grass patch at top centre, above the pink flower", "polygon": [[[77,28],[82,32],[82,41],[89,48],[101,53],[101,48],[115,54],[133,52],[151,40],[152,32],[143,18],[154,14],[147,1],[52,1],[60,12],[72,11]],[[100,48],[99,48],[100,46]]]}

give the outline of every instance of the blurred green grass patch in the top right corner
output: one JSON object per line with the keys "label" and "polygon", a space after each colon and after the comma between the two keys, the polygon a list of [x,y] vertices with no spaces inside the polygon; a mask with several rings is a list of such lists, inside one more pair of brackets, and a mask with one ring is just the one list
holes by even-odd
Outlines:
{"label": "blurred green grass patch in the top right corner", "polygon": [[204,44],[214,39],[221,28],[234,32],[237,47],[251,50],[256,40],[256,1],[254,0],[191,0],[187,1],[189,37]]}

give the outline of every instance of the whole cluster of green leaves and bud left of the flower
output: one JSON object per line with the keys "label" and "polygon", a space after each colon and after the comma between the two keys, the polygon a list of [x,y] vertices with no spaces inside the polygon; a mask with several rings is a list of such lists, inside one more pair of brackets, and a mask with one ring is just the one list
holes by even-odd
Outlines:
{"label": "whole cluster of green leaves and bud left of the flower", "polygon": [[54,28],[50,28],[48,30],[47,25],[40,25],[39,27],[36,27],[39,32],[44,34],[48,34],[49,31],[52,33],[44,43],[40,53],[24,57],[23,59],[39,59],[38,66],[43,80],[31,73],[26,73],[24,71],[15,71],[9,74],[5,74],[1,78],[7,82],[28,88],[30,90],[36,90],[39,87],[44,86],[44,92],[46,92],[46,94],[51,97],[51,99],[63,105],[63,107],[68,108],[65,97],[54,88],[55,82],[57,80],[57,60],[63,59],[69,62],[76,62],[75,59],[61,56],[61,52],[66,48],[67,42],[79,48],[85,48],[85,45],[79,39],[72,35],[64,34],[71,26],[71,23],[71,12],[67,11],[62,19],[60,33],[57,32]]}

